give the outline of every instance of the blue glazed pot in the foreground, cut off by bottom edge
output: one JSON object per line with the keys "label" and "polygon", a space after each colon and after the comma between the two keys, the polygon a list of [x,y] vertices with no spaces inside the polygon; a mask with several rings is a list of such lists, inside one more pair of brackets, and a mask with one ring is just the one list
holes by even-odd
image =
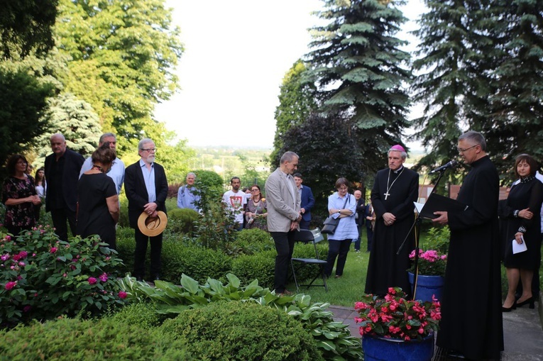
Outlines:
{"label": "blue glazed pot in the foreground, cut off by bottom edge", "polygon": [[434,355],[434,334],[420,341],[364,335],[362,350],[364,361],[430,361]]}

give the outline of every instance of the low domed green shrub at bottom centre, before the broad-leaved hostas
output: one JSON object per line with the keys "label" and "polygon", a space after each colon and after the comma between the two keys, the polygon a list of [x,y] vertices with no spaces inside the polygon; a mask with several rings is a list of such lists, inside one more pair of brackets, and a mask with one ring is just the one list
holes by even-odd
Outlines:
{"label": "low domed green shrub at bottom centre, before the broad-leaved hostas", "polygon": [[302,325],[278,309],[216,302],[164,322],[199,360],[324,360]]}

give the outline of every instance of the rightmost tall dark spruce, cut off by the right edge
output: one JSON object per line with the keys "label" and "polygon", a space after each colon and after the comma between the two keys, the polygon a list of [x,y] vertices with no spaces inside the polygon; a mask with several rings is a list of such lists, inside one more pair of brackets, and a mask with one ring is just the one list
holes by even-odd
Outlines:
{"label": "rightmost tall dark spruce, cut off by the right edge", "polygon": [[505,181],[515,157],[543,161],[543,5],[541,1],[493,1],[496,39],[488,118],[481,127]]}

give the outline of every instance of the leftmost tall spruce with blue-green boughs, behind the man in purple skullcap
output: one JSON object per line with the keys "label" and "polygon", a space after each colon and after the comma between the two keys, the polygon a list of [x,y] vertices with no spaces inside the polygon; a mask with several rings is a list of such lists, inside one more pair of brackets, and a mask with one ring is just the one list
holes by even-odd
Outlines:
{"label": "leftmost tall spruce with blue-green boughs, behind the man in purple skullcap", "polygon": [[395,38],[406,18],[396,5],[404,1],[324,0],[317,15],[329,21],[313,28],[313,49],[307,54],[317,84],[321,110],[341,112],[375,172],[384,164],[390,145],[401,143],[410,105],[405,84],[410,56]]}

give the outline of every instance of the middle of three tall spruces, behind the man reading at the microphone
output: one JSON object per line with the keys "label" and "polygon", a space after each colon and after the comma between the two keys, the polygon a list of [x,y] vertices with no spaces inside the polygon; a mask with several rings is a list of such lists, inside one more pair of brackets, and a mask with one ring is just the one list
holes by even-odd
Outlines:
{"label": "middle of three tall spruces, behind the man reading at the microphone", "polygon": [[458,155],[456,140],[466,128],[477,128],[488,110],[488,72],[485,54],[493,43],[480,27],[484,18],[481,1],[427,0],[428,8],[415,30],[421,42],[413,69],[414,101],[424,113],[413,121],[427,152],[418,167],[434,167]]}

